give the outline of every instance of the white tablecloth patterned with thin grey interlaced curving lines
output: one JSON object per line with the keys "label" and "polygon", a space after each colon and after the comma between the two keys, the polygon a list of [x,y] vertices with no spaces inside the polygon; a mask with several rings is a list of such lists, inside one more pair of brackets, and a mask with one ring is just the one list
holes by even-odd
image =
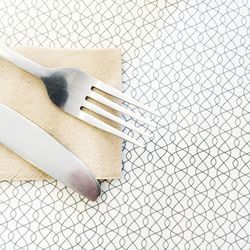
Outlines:
{"label": "white tablecloth patterned with thin grey interlaced curving lines", "polygon": [[162,114],[135,110],[155,138],[123,144],[97,202],[1,182],[0,248],[249,249],[249,14],[247,0],[0,0],[2,44],[121,47],[124,91]]}

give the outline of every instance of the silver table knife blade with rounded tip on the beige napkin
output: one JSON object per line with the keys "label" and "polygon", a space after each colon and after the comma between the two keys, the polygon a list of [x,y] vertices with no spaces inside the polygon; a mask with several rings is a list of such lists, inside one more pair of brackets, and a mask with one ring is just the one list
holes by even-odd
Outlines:
{"label": "silver table knife blade with rounded tip on the beige napkin", "polygon": [[21,114],[0,103],[0,144],[74,191],[95,201],[100,185],[74,154]]}

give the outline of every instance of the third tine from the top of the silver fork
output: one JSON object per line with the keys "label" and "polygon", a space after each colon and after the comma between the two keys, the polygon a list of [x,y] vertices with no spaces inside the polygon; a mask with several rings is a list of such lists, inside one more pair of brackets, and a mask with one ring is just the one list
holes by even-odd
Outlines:
{"label": "third tine from the top of the silver fork", "polygon": [[135,127],[134,125],[122,120],[120,117],[117,117],[117,116],[109,113],[105,109],[102,109],[89,101],[85,101],[83,107],[85,107],[85,108],[87,108],[87,109],[89,109],[89,110],[91,110],[91,111],[93,111],[101,116],[104,116],[104,117],[106,117],[114,122],[117,122],[117,123],[119,123],[127,128],[130,128],[131,130],[134,130],[139,134],[146,135],[149,138],[151,137],[150,134],[148,134],[147,132],[144,132],[142,129]]}

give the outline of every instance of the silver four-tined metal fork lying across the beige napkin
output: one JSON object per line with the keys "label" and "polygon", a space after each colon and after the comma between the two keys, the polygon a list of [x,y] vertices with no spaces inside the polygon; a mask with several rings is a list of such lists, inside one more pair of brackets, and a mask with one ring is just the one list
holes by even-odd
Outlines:
{"label": "silver four-tined metal fork lying across the beige napkin", "polygon": [[[40,78],[46,86],[47,93],[51,101],[66,113],[96,128],[130,141],[140,147],[145,147],[145,145],[113,126],[90,115],[86,112],[86,110],[121,124],[132,131],[136,131],[140,135],[145,135],[149,138],[152,137],[152,134],[144,132],[142,129],[124,121],[118,116],[113,115],[93,102],[90,102],[89,98],[104,104],[106,107],[129,115],[140,122],[154,127],[156,126],[153,122],[148,121],[144,117],[122,107],[121,105],[111,101],[109,98],[104,97],[100,94],[100,91],[122,101],[128,102],[156,116],[159,116],[158,112],[134,100],[132,97],[122,93],[118,89],[96,79],[92,75],[89,75],[77,68],[47,68],[6,47],[0,47],[0,57]],[[97,92],[96,90],[99,91]]]}

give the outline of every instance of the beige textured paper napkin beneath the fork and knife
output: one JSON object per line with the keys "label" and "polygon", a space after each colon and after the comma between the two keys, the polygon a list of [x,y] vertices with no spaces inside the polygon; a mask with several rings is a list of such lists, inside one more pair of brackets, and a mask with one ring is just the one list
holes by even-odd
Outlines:
{"label": "beige textured paper napkin beneath the fork and knife", "polygon": [[[15,50],[44,66],[77,67],[112,86],[121,85],[120,49]],[[62,112],[49,100],[41,80],[3,59],[0,102],[45,129],[87,164],[98,179],[120,176],[121,140]],[[51,177],[0,145],[0,180],[41,179]]]}

